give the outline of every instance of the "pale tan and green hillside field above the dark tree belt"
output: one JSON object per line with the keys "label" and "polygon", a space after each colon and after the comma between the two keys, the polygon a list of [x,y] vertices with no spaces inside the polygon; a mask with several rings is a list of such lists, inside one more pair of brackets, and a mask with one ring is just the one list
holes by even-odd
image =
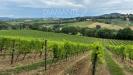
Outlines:
{"label": "pale tan and green hillside field above the dark tree belt", "polygon": [[88,27],[88,28],[95,28],[96,25],[100,25],[102,28],[114,29],[114,30],[123,29],[125,27],[130,27],[133,29],[132,25],[127,26],[125,22],[124,23],[121,22],[121,25],[120,25],[120,22],[119,23],[113,23],[113,24],[105,24],[105,23],[100,23],[100,22],[84,21],[84,22],[67,23],[65,25],[78,26],[78,27]]}

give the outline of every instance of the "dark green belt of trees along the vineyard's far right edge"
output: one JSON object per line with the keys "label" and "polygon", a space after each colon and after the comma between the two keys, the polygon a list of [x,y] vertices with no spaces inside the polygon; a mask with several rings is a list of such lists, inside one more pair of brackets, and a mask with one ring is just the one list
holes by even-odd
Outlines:
{"label": "dark green belt of trees along the vineyard's far right edge", "polygon": [[66,34],[76,35],[80,33],[82,36],[106,38],[106,39],[122,39],[122,40],[133,40],[133,30],[130,28],[124,28],[121,30],[110,30],[110,29],[90,29],[90,28],[79,28],[79,27],[64,27],[60,32]]}

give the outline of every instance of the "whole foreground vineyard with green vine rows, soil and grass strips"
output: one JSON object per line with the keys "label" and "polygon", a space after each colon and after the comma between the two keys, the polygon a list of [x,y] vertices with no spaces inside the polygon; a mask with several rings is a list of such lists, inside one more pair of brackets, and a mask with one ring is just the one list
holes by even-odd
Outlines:
{"label": "whole foreground vineyard with green vine rows, soil and grass strips", "polygon": [[0,31],[0,75],[132,75],[133,41]]}

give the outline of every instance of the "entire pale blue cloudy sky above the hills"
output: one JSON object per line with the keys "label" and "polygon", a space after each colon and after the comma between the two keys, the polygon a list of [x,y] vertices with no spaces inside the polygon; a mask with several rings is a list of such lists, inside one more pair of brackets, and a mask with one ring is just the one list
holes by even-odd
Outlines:
{"label": "entire pale blue cloudy sky above the hills", "polygon": [[48,18],[133,13],[133,0],[0,0],[0,17]]}

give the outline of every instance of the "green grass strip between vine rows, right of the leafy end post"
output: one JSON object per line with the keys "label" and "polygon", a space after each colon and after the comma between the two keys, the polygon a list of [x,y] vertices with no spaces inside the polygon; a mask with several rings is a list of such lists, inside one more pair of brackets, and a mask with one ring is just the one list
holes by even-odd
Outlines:
{"label": "green grass strip between vine rows, right of the leafy end post", "polygon": [[108,51],[105,51],[105,60],[111,75],[125,75],[122,68],[115,63]]}

